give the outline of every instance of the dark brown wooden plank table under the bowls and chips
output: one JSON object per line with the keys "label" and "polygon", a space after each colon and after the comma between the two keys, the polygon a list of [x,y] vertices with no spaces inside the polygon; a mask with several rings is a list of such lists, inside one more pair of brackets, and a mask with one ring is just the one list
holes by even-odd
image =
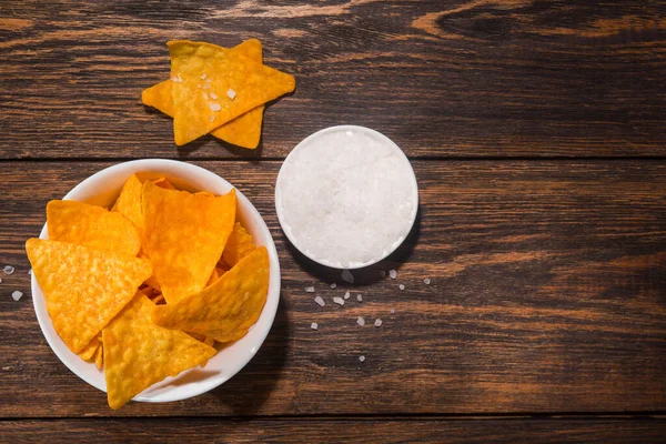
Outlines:
{"label": "dark brown wooden plank table under the bowls and chips", "polygon": [[[165,42],[248,38],[296,92],[255,151],[176,149],[140,101]],[[0,441],[664,442],[663,2],[6,0],[0,56]],[[421,196],[413,235],[353,287],[295,254],[273,203],[290,150],[342,123],[402,147]],[[234,379],[113,412],[42,336],[23,244],[49,200],[140,158],[245,193],[283,289]],[[363,303],[321,309],[309,285]]]}

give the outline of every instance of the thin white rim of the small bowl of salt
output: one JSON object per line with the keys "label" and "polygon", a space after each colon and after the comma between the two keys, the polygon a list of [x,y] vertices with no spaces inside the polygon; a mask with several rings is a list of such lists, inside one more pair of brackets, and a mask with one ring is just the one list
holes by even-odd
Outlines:
{"label": "thin white rim of the small bowl of salt", "polygon": [[[414,208],[412,209],[412,213],[410,214],[410,229],[407,230],[407,232],[405,233],[405,238],[398,242],[396,245],[394,245],[391,250],[387,250],[385,252],[385,254],[383,254],[380,259],[374,260],[374,261],[369,261],[369,262],[363,262],[361,264],[353,264],[350,266],[336,266],[334,264],[332,264],[331,262],[327,262],[326,260],[322,260],[322,259],[316,259],[314,258],[312,254],[310,254],[306,251],[301,250],[301,248],[299,246],[299,244],[296,242],[294,242],[294,239],[292,238],[292,235],[289,233],[287,230],[284,229],[284,215],[282,212],[282,209],[279,204],[279,202],[282,202],[282,190],[278,186],[278,183],[280,182],[280,178],[282,175],[282,172],[284,171],[284,165],[287,164],[287,162],[290,161],[290,159],[295,155],[294,153],[296,153],[300,150],[303,150],[303,147],[307,145],[312,140],[317,139],[322,135],[332,133],[332,132],[342,132],[342,131],[357,131],[361,133],[365,133],[369,134],[373,138],[380,139],[383,142],[385,142],[389,147],[391,147],[396,153],[397,155],[401,158],[401,160],[403,160],[403,162],[407,165],[411,174],[410,174],[410,182],[412,182],[413,190],[414,192],[412,193],[412,199],[414,201]],[[282,229],[282,232],[284,233],[284,235],[286,236],[286,239],[289,239],[289,241],[292,243],[292,245],[294,245],[296,248],[296,250],[299,250],[305,258],[310,259],[311,261],[320,264],[320,265],[324,265],[331,269],[336,269],[336,270],[357,270],[357,269],[364,269],[366,266],[371,266],[374,265],[379,262],[382,262],[384,259],[389,258],[391,254],[393,254],[395,252],[395,250],[397,250],[400,248],[400,245],[403,244],[403,242],[408,238],[408,234],[412,232],[413,228],[414,228],[414,223],[416,222],[416,215],[418,214],[418,182],[416,181],[416,174],[414,173],[414,168],[412,167],[412,163],[410,162],[410,159],[405,155],[405,153],[403,152],[403,150],[393,141],[391,140],[387,135],[373,130],[371,128],[366,128],[366,127],[361,127],[361,125],[351,125],[351,124],[341,124],[341,125],[334,125],[334,127],[329,127],[329,128],[324,128],[322,130],[319,130],[312,134],[310,134],[309,137],[306,137],[305,139],[303,139],[302,141],[300,141],[294,148],[293,150],[291,150],[291,152],[287,154],[287,157],[284,159],[284,161],[282,162],[282,165],[280,167],[280,172],[278,173],[278,178],[275,179],[275,213],[278,214],[278,221],[280,222],[280,228]]]}

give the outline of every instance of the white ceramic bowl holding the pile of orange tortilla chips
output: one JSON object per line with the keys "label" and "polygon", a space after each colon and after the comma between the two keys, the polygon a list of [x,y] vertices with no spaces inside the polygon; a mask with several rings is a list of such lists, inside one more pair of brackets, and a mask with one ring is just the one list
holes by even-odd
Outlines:
{"label": "white ceramic bowl holding the pile of orange tortilla chips", "polygon": [[[174,186],[189,191],[209,191],[214,194],[224,194],[233,188],[231,183],[203,168],[172,160],[147,159],[107,168],[79,183],[63,199],[109,206],[120,194],[125,180],[133,173],[137,173],[140,179],[165,176]],[[139,394],[134,397],[134,401],[170,402],[205,393],[223,384],[243,369],[258,352],[269,334],[275,319],[280,299],[280,263],[278,261],[278,252],[275,251],[271,232],[256,209],[238,189],[236,198],[240,221],[248,232],[252,234],[255,244],[265,245],[269,251],[271,265],[269,296],[261,316],[243,339],[230,345],[219,345],[218,354],[208,362],[205,367],[190,369],[175,377],[168,377]],[[48,239],[46,224],[41,231],[40,239]],[[37,320],[56,355],[77,376],[105,392],[107,383],[103,371],[98,370],[94,364],[88,363],[72,353],[60,336],[58,336],[58,333],[56,333],[53,323],[47,311],[44,295],[34,275],[32,275],[31,287]]]}

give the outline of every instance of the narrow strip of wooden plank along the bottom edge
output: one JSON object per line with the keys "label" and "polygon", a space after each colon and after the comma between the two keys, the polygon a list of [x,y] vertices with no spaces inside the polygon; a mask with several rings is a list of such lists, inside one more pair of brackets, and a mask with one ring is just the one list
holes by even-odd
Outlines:
{"label": "narrow strip of wooden plank along the bottom edge", "polygon": [[656,418],[3,421],[11,443],[663,443]]}

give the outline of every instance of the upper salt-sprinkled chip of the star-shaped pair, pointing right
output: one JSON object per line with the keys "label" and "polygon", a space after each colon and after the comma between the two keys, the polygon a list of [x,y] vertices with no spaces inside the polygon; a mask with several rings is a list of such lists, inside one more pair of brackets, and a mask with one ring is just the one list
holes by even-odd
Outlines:
{"label": "upper salt-sprinkled chip of the star-shaped pair, pointing right", "polygon": [[[173,133],[189,143],[295,88],[293,75],[204,42],[168,43],[171,56]],[[210,84],[211,89],[203,87]],[[213,99],[206,91],[215,93]],[[209,99],[203,94],[206,92]]]}

